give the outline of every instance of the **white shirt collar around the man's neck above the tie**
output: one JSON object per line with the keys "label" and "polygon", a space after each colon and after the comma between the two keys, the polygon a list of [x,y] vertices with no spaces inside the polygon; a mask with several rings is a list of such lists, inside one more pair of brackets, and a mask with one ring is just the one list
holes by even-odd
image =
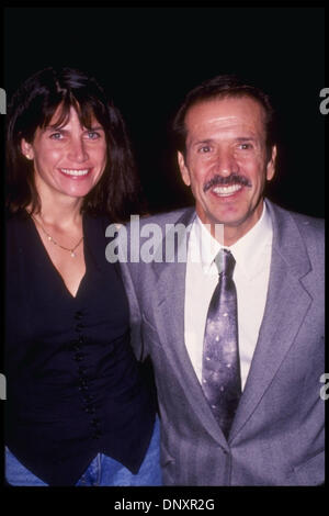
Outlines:
{"label": "white shirt collar around the man's neck above the tie", "polygon": [[[271,215],[264,202],[261,217],[254,226],[232,246],[226,247],[235,257],[236,268],[239,268],[247,278],[253,278],[261,269],[263,254],[272,243],[272,234]],[[197,215],[190,238],[193,258],[200,260],[204,273],[217,274],[214,258],[223,246],[211,235]]]}

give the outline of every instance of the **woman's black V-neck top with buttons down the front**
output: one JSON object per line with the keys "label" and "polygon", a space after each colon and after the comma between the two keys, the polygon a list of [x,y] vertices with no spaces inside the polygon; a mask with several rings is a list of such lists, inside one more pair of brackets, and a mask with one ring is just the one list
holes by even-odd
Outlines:
{"label": "woman's black V-neck top with buttons down the front", "polygon": [[83,216],[86,274],[76,298],[33,221],[7,225],[5,444],[49,485],[73,485],[98,452],[136,473],[152,433],[154,396],[129,347],[106,225]]}

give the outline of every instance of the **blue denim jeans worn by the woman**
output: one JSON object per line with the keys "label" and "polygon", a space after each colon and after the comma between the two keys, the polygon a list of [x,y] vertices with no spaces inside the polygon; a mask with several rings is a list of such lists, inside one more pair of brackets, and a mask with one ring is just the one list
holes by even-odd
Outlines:
{"label": "blue denim jeans worn by the woman", "polygon": [[[5,480],[10,485],[47,486],[5,448]],[[111,457],[98,453],[79,479],[77,486],[162,485],[160,470],[160,431],[156,420],[154,435],[137,474]]]}

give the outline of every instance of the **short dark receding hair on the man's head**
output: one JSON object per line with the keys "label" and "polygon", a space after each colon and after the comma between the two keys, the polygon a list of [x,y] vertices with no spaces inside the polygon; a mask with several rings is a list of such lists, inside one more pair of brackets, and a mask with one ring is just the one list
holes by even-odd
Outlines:
{"label": "short dark receding hair on the man's head", "polygon": [[259,102],[264,110],[264,123],[266,132],[266,152],[268,157],[271,156],[272,146],[276,142],[275,135],[275,116],[274,109],[272,106],[270,97],[264,93],[261,89],[245,82],[234,75],[222,75],[214,77],[213,79],[202,82],[191,90],[180,109],[178,110],[173,120],[172,130],[174,144],[178,150],[180,150],[185,157],[186,154],[186,126],[185,116],[188,111],[195,104],[213,99],[224,99],[227,97],[240,98],[250,97]]}

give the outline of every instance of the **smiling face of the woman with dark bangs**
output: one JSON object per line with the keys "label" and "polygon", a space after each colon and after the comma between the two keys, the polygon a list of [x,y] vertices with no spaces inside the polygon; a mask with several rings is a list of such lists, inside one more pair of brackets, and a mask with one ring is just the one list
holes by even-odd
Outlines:
{"label": "smiling face of the woman with dark bangs", "polygon": [[91,128],[82,127],[71,108],[67,123],[55,127],[60,106],[47,127],[37,128],[32,144],[24,138],[23,154],[34,161],[38,194],[84,198],[99,182],[106,165],[106,138],[103,127],[92,117]]}

